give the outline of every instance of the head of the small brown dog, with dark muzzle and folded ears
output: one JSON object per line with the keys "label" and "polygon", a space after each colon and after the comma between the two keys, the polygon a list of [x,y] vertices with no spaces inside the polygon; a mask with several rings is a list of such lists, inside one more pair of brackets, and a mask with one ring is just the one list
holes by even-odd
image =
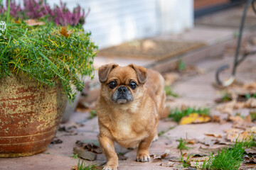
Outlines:
{"label": "head of the small brown dog, with dark muzzle and folded ears", "polygon": [[105,64],[99,69],[102,83],[101,95],[106,101],[125,104],[134,101],[142,94],[146,82],[146,69],[134,64],[119,67],[117,64]]}

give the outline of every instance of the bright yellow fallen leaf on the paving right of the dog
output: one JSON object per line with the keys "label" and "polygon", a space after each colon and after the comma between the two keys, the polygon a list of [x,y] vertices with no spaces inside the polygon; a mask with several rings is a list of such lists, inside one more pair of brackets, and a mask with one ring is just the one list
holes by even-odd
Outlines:
{"label": "bright yellow fallen leaf on the paving right of the dog", "polygon": [[210,121],[208,115],[199,115],[198,113],[191,113],[183,118],[181,118],[180,125],[187,125],[191,123],[206,123]]}

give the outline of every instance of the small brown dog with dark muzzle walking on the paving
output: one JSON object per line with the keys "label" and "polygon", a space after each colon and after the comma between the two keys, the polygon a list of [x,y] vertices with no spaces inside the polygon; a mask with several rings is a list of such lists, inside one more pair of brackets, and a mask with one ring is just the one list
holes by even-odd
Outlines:
{"label": "small brown dog with dark muzzle walking on the paving", "polygon": [[157,138],[159,116],[164,110],[164,78],[151,69],[129,64],[105,64],[99,69],[100,98],[96,112],[99,142],[107,157],[105,170],[116,170],[114,142],[138,147],[137,161],[149,162],[149,145]]}

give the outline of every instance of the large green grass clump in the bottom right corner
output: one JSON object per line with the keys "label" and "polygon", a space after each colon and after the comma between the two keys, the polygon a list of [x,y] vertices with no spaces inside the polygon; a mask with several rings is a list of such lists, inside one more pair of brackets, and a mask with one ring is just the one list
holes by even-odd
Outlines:
{"label": "large green grass clump in the bottom right corner", "polygon": [[235,144],[218,151],[218,154],[210,155],[208,161],[203,164],[203,169],[239,169],[245,155],[245,149],[255,146],[253,137],[235,141]]}

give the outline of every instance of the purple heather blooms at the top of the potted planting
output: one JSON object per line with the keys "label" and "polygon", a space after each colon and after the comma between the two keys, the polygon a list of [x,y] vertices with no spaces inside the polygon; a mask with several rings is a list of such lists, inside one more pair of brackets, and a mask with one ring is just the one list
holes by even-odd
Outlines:
{"label": "purple heather blooms at the top of the potted planting", "polygon": [[[7,11],[8,2],[6,1],[6,7],[0,6],[0,14],[4,14]],[[60,26],[78,26],[78,24],[84,24],[85,11],[82,10],[80,6],[77,6],[73,9],[73,12],[70,12],[66,7],[66,4],[60,1],[60,6],[54,6],[50,8],[44,0],[23,0],[23,8],[20,4],[16,4],[14,0],[11,0],[10,4],[10,15],[14,18],[42,18],[48,17],[49,21],[55,22],[56,25]]]}

